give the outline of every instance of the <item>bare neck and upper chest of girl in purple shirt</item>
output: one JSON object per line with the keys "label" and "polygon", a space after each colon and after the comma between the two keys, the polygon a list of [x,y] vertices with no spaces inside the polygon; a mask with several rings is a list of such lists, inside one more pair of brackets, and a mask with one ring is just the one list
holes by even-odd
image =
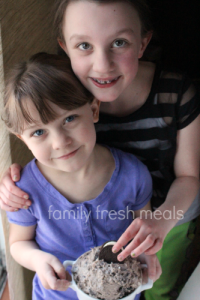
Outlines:
{"label": "bare neck and upper chest of girl in purple shirt", "polygon": [[95,146],[88,164],[77,172],[59,172],[50,170],[40,163],[37,165],[51,185],[72,203],[96,198],[103,191],[115,169],[111,152],[99,145]]}

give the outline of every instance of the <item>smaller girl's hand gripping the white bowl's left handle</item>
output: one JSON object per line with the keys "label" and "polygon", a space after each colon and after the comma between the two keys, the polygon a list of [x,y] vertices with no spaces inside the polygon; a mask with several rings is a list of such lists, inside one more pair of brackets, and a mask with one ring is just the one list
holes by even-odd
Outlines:
{"label": "smaller girl's hand gripping the white bowl's left handle", "polygon": [[[66,291],[70,285],[70,274],[59,259],[52,254],[36,251],[33,256],[35,271],[45,289]],[[67,280],[68,279],[68,280]]]}

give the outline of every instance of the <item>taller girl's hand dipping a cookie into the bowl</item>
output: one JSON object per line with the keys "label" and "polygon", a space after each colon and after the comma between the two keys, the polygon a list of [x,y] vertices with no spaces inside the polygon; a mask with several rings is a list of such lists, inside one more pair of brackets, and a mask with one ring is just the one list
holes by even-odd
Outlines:
{"label": "taller girl's hand dipping a cookie into the bowl", "polygon": [[170,220],[157,220],[153,214],[149,214],[145,219],[136,218],[121,235],[112,251],[118,252],[133,239],[118,255],[118,260],[122,261],[128,255],[137,257],[142,253],[155,254],[162,248],[163,241],[172,227]]}

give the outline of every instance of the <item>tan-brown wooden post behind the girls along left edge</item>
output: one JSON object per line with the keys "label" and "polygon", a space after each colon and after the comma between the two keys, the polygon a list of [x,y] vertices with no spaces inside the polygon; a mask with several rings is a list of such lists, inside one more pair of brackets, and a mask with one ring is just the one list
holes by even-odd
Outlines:
{"label": "tan-brown wooden post behind the girls along left edge", "polygon": [[[16,62],[25,60],[36,52],[56,53],[53,3],[54,0],[0,0],[0,113],[7,70]],[[11,163],[25,165],[31,157],[26,147],[8,134],[0,120],[0,177]],[[2,222],[10,300],[31,300],[33,273],[12,259],[8,246],[9,224],[4,212]]]}

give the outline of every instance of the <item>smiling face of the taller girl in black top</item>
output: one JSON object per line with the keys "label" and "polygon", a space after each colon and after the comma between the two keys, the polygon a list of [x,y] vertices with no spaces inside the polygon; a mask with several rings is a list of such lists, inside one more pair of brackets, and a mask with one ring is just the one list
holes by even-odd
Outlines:
{"label": "smiling face of the taller girl in black top", "polygon": [[83,85],[100,101],[111,102],[130,90],[138,59],[151,38],[141,36],[137,12],[128,3],[96,4],[74,1],[63,23],[72,68]]}

